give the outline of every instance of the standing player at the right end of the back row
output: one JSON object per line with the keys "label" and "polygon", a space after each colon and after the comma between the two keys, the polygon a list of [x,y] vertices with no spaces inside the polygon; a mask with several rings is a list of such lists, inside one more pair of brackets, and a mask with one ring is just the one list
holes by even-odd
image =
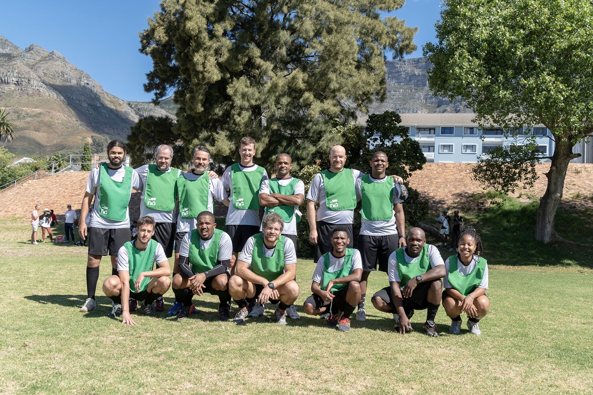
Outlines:
{"label": "standing player at the right end of the back row", "polygon": [[386,175],[389,166],[386,153],[375,152],[369,164],[371,174],[356,180],[356,197],[362,201],[362,224],[358,236],[358,251],[362,255],[358,321],[366,321],[366,284],[371,271],[377,269],[377,260],[379,270],[387,272],[391,253],[406,245],[406,218],[401,204],[408,196],[406,187]]}

